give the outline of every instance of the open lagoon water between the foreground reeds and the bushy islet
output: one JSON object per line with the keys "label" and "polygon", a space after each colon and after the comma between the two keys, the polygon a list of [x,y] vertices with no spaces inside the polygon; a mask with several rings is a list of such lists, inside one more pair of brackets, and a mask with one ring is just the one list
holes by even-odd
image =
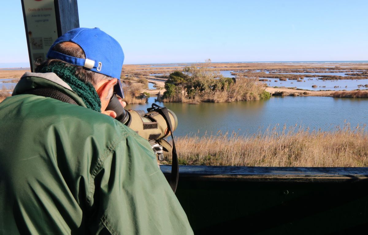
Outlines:
{"label": "open lagoon water between the foreground reeds and the bushy islet", "polygon": [[[130,104],[126,108],[145,110],[155,100],[147,104]],[[330,131],[344,122],[351,126],[368,123],[368,99],[344,99],[332,97],[271,97],[266,100],[233,103],[160,103],[178,117],[176,136],[190,134],[204,135],[217,131],[237,132],[252,135],[263,132],[268,127],[286,124],[288,127],[302,125],[311,129]]]}

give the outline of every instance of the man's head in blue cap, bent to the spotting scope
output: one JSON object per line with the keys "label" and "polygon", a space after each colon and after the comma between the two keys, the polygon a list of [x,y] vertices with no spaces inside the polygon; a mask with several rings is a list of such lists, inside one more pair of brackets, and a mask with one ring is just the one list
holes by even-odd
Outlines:
{"label": "man's head in blue cap, bent to the spotting scope", "polygon": [[77,77],[95,87],[103,113],[113,90],[124,97],[120,83],[123,50],[114,38],[99,28],[68,31],[54,42],[47,58],[42,66],[57,61],[75,67]]}

